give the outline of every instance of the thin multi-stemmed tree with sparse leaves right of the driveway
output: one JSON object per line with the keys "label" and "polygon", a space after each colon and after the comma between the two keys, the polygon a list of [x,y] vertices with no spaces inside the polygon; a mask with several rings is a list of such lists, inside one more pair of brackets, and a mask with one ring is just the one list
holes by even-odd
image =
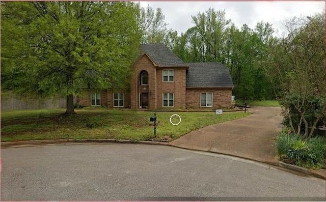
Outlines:
{"label": "thin multi-stemmed tree with sparse leaves right of the driveway", "polygon": [[286,21],[266,72],[281,102],[284,124],[310,138],[325,118],[325,15]]}

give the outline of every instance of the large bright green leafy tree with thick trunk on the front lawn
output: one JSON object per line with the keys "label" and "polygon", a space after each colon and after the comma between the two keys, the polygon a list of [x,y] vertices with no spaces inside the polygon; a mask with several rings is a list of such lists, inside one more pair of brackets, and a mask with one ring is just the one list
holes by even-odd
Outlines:
{"label": "large bright green leafy tree with thick trunk on the front lawn", "polygon": [[3,88],[66,96],[124,85],[141,33],[128,2],[2,2]]}

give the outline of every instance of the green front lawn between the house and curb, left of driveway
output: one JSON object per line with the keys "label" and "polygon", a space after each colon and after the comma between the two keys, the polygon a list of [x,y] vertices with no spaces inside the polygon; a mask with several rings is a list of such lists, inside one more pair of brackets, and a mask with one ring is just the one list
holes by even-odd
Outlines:
{"label": "green front lawn between the house and curb, left of driveway", "polygon": [[[75,115],[65,116],[65,109],[16,110],[1,112],[1,141],[37,139],[129,139],[174,140],[204,126],[249,116],[243,111],[224,112],[157,112],[156,137],[154,116],[150,111],[120,109],[75,109]],[[178,113],[181,123],[170,123]],[[179,118],[174,116],[173,123]]]}

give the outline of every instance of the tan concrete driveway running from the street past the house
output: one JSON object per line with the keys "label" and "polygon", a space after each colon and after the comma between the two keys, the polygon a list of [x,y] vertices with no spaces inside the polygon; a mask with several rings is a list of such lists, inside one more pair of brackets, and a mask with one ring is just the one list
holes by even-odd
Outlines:
{"label": "tan concrete driveway running from the street past the house", "polygon": [[250,111],[249,117],[201,128],[170,145],[277,164],[273,145],[282,130],[281,108],[254,107]]}

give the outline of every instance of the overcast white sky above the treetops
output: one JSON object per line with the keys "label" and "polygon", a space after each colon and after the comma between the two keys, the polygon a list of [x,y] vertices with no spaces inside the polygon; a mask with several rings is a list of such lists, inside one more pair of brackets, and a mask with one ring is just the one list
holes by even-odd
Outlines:
{"label": "overcast white sky above the treetops", "polygon": [[[294,16],[300,17],[321,13],[325,9],[325,2],[295,1],[295,2],[228,2],[228,1],[150,1],[140,2],[142,7],[149,5],[153,9],[161,8],[165,15],[168,28],[185,33],[192,27],[191,16],[197,16],[198,12],[205,12],[209,7],[217,10],[225,10],[226,18],[240,28],[247,24],[254,28],[257,22],[264,21],[273,24],[275,31],[281,35],[284,31],[282,22]],[[275,33],[277,34],[277,33]]]}

